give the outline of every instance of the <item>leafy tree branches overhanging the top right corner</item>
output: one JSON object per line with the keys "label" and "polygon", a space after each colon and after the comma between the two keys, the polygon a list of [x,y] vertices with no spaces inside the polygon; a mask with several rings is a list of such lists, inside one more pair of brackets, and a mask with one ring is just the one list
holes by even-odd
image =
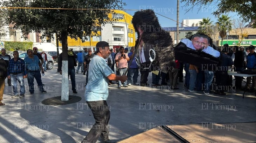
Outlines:
{"label": "leafy tree branches overhanging the top right corner", "polygon": [[[221,14],[235,12],[240,15],[243,22],[256,20],[256,0],[181,0],[187,7],[187,12],[193,10],[194,6],[200,6],[200,9],[212,7],[216,9],[213,15],[219,17]],[[253,24],[256,27],[256,23]]]}

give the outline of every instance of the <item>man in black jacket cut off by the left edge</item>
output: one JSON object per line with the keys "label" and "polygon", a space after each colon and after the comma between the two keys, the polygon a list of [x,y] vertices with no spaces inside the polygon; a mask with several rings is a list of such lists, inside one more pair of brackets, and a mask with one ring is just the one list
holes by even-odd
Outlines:
{"label": "man in black jacket cut off by the left edge", "polygon": [[0,58],[0,106],[4,106],[2,103],[4,90],[5,90],[5,78],[7,77],[7,64],[3,58]]}

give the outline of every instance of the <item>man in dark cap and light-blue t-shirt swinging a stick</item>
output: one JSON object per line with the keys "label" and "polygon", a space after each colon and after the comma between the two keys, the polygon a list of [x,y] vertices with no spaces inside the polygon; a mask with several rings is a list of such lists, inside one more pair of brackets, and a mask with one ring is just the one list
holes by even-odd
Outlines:
{"label": "man in dark cap and light-blue t-shirt swinging a stick", "polygon": [[108,81],[120,80],[126,81],[127,76],[118,76],[108,67],[105,59],[109,57],[109,45],[105,41],[96,44],[96,52],[89,64],[88,84],[86,85],[85,100],[90,110],[92,110],[95,124],[90,129],[82,143],[95,143],[99,137],[104,142],[108,142],[108,122],[110,111],[107,104],[108,98]]}

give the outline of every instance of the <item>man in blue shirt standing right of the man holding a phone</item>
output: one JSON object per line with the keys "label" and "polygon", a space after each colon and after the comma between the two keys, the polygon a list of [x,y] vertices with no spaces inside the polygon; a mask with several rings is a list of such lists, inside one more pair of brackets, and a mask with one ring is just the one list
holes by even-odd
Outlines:
{"label": "man in blue shirt standing right of the man holding a phone", "polygon": [[[131,52],[128,53],[128,57],[131,59],[132,55],[134,54],[135,47],[131,47]],[[139,85],[139,83],[137,83],[137,78],[139,76],[139,66],[137,65],[136,61],[135,61],[135,57],[136,55],[134,55],[133,59],[128,61],[128,65],[131,63],[130,68],[128,69],[128,73],[127,73],[127,81],[128,81],[128,85],[130,86],[132,83],[135,85]]]}

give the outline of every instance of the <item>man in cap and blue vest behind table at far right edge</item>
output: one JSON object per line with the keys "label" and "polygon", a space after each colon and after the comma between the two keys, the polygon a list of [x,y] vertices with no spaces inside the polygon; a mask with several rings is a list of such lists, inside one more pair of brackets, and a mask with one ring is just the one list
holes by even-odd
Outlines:
{"label": "man in cap and blue vest behind table at far right edge", "polygon": [[[255,47],[250,45],[248,49],[250,53],[247,55],[247,69],[256,71],[256,53],[254,52]],[[252,78],[253,89],[256,90],[256,76],[253,76]],[[247,77],[246,79],[247,88],[250,88],[251,77]]]}

